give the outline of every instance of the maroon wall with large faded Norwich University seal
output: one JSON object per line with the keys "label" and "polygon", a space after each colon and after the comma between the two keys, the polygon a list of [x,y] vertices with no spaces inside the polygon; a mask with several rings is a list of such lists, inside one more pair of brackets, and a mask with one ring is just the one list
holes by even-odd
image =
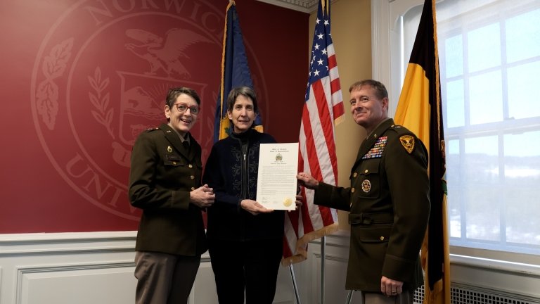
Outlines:
{"label": "maroon wall with large faded Norwich University seal", "polygon": [[[129,155],[165,120],[167,87],[200,92],[212,146],[228,0],[2,1],[0,233],[135,230]],[[265,132],[295,142],[307,13],[236,1]]]}

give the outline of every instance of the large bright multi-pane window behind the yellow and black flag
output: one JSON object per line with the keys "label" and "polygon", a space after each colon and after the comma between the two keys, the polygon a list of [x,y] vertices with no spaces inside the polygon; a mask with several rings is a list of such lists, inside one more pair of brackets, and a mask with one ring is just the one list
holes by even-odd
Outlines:
{"label": "large bright multi-pane window behind the yellow and black flag", "polygon": [[[403,50],[396,102],[421,11],[399,18],[392,37]],[[538,0],[437,3],[451,253],[539,264],[539,20]]]}

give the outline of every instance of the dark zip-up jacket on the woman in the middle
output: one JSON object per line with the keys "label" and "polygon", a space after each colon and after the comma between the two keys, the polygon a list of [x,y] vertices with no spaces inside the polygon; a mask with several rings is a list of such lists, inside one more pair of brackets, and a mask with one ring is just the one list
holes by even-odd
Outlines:
{"label": "dark zip-up jacket on the woman in the middle", "polygon": [[[248,142],[245,157],[242,140]],[[216,194],[214,205],[208,208],[210,241],[283,238],[283,210],[252,215],[240,207],[243,199],[257,199],[260,145],[275,142],[271,135],[249,129],[243,134],[231,134],[212,146],[203,176],[203,182]]]}

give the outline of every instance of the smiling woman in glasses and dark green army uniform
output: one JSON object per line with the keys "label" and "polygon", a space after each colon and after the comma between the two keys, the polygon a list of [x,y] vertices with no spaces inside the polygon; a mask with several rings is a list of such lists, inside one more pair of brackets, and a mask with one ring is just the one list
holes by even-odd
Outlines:
{"label": "smiling woman in glasses and dark green army uniform", "polygon": [[189,132],[199,105],[193,89],[169,89],[167,124],[142,132],[133,146],[129,202],[143,210],[135,246],[136,303],[186,303],[207,250],[201,210],[215,196],[201,186],[201,150]]}

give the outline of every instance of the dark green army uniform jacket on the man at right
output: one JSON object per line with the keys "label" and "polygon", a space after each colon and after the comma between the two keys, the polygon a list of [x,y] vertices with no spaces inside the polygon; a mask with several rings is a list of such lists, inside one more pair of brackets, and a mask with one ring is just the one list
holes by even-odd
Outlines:
{"label": "dark green army uniform jacket on the man at right", "polygon": [[416,289],[423,284],[418,253],[430,214],[425,146],[385,120],[361,144],[350,179],[350,188],[319,183],[314,198],[317,205],[349,211],[345,288],[380,292],[385,276]]}

